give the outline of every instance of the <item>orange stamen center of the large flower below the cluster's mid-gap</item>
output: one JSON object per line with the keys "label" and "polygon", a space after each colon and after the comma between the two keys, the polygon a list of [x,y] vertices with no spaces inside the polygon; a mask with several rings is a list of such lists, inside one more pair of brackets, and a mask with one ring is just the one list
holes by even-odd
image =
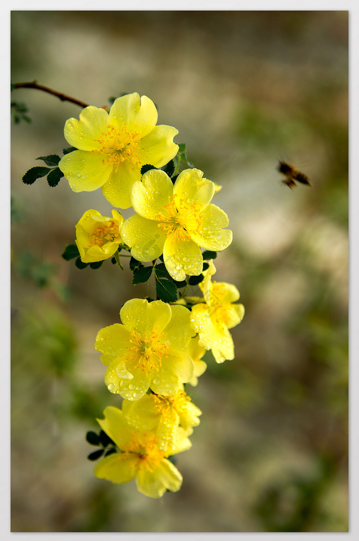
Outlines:
{"label": "orange stamen center of the large flower below the cluster's mid-gap", "polygon": [[130,370],[141,370],[147,377],[153,370],[159,371],[162,365],[162,357],[167,357],[171,348],[166,344],[164,333],[138,333],[132,331],[130,344],[127,349],[130,353],[126,361],[133,366]]}

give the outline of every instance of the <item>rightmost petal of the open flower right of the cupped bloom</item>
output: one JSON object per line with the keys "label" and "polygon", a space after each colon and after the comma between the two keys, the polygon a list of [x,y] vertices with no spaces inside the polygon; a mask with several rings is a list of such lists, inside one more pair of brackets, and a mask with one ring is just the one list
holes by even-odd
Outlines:
{"label": "rightmost petal of the open flower right of the cupped bloom", "polygon": [[227,214],[216,205],[209,203],[201,215],[198,232],[191,232],[191,237],[206,250],[223,250],[232,242],[232,231],[222,229],[227,226]]}

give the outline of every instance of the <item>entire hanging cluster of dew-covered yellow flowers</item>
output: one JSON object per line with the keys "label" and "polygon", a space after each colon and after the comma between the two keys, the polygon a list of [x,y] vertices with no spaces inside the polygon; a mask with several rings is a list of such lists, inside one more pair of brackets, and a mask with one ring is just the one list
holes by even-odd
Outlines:
{"label": "entire hanging cluster of dew-covered yellow flowers", "polygon": [[[185,384],[197,385],[206,351],[216,362],[234,359],[228,329],[244,315],[243,305],[234,304],[238,289],[212,281],[212,260],[204,267],[201,248],[223,250],[232,242],[227,215],[211,203],[215,184],[192,167],[173,179],[159,169],[178,155],[178,130],[156,124],[155,105],[137,93],[117,98],[109,112],[86,107],[79,120],[65,124],[65,138],[76,149],[58,165],[74,192],[101,188],[112,206],[136,213],[124,220],[115,209],[112,217],[87,210],[76,225],[84,263],[118,259],[120,247],[140,262],[162,257],[176,282],[204,275],[202,296],[171,303],[131,299],[120,310],[121,324],[96,338],[105,384],[123,401],[98,419],[116,452],[94,473],[116,484],[136,478],[138,490],[152,498],[180,489],[182,476],[168,457],[191,447],[188,438],[200,422]],[[141,174],[147,164],[153,168]]]}

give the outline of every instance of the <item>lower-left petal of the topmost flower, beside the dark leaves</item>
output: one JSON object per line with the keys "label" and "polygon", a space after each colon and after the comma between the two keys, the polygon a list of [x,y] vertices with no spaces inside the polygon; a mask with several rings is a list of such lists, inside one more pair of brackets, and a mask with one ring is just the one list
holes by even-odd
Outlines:
{"label": "lower-left petal of the topmost flower, beside the dark leaves", "polygon": [[58,164],[73,192],[93,192],[103,186],[112,171],[112,163],[104,162],[98,152],[74,150]]}

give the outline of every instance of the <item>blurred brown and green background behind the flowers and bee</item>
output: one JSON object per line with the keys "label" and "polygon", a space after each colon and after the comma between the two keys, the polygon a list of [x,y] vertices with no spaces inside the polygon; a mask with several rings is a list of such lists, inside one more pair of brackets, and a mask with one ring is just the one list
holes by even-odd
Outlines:
{"label": "blurred brown and green background behind the flowers and bee", "polygon": [[[85,434],[120,405],[94,338],[153,284],[62,259],[85,210],[111,207],[65,179],[22,183],[62,154],[80,108],[14,90],[31,123],[11,129],[12,531],[347,531],[348,12],[12,11],[11,78],[98,107],[150,97],[222,185],[233,243],[216,279],[246,308],[235,359],[206,354],[187,386],[203,414],[181,490],[153,500],[94,478]],[[282,184],[279,159],[313,186]]]}

